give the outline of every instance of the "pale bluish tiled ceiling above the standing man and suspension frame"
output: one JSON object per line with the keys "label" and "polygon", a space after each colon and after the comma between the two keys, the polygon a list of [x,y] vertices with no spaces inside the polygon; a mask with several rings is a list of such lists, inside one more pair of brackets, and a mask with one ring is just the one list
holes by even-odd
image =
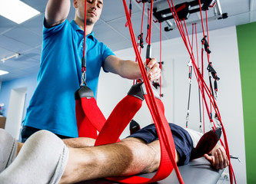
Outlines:
{"label": "pale bluish tiled ceiling above the standing man and suspension frame", "polygon": [[[156,0],[165,1],[165,0]],[[185,0],[176,0],[178,3]],[[8,58],[15,53],[21,54],[18,58],[12,58],[3,63],[0,61],[0,70],[8,71],[9,74],[0,76],[0,81],[10,81],[19,77],[37,74],[40,64],[42,45],[42,19],[44,16],[46,0],[22,0],[28,5],[41,12],[35,18],[25,21],[21,25],[9,21],[0,15],[0,60]],[[72,1],[71,1],[72,2]],[[126,0],[129,5],[129,0]],[[131,21],[135,36],[140,34],[142,3],[132,0]],[[191,0],[188,0],[191,2]],[[254,0],[219,0],[223,13],[228,13],[228,18],[209,21],[209,30],[224,28],[234,25],[243,25],[256,21],[256,3]],[[146,3],[148,7],[148,3]],[[213,13],[209,10],[209,16]],[[146,13],[145,13],[146,15]],[[75,16],[75,9],[71,7],[68,20]],[[189,21],[198,19],[198,14],[193,14]],[[147,18],[144,19],[144,35],[146,35]],[[125,28],[125,11],[121,0],[105,0],[100,20],[96,23],[95,37],[104,42],[113,51],[131,48],[131,40],[128,28]],[[162,39],[167,40],[179,36],[178,30],[164,31],[166,22],[162,25]],[[198,26],[199,27],[199,26]],[[200,31],[200,30],[199,30]],[[159,41],[159,23],[152,26],[152,42]]]}

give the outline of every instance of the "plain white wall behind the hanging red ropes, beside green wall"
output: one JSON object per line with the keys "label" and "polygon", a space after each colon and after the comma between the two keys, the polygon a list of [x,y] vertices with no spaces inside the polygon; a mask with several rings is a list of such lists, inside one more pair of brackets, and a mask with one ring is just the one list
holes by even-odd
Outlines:
{"label": "plain white wall behind the hanging red ropes, beside green wall", "polygon": [[[198,43],[200,43],[201,38],[202,35],[198,34]],[[212,51],[211,62],[218,72],[218,77],[221,78],[218,82],[219,98],[217,103],[228,136],[230,153],[234,156],[239,156],[241,159],[241,163],[238,163],[237,160],[231,160],[231,162],[238,183],[246,183],[244,123],[236,29],[231,27],[210,31],[209,38],[210,50]],[[119,58],[135,60],[133,48],[116,51],[115,54]],[[141,56],[143,59],[145,58],[145,49],[142,51]],[[152,57],[159,60],[159,43],[152,44]],[[162,100],[165,104],[165,116],[169,122],[185,127],[188,106],[187,64],[189,55],[180,38],[163,41],[162,61],[165,61],[162,69],[162,93],[165,95]],[[205,67],[204,71],[206,71]],[[207,77],[208,73],[205,74],[205,78]],[[198,86],[194,74],[192,80],[188,126],[198,130]],[[105,74],[104,72],[101,72],[99,81],[98,106],[105,114],[105,117],[108,117],[115,105],[122,97],[125,97],[132,85],[132,81],[114,76],[114,74]],[[141,110],[136,114],[135,120],[142,127],[151,123],[151,115],[145,102]],[[205,128],[208,130],[208,117],[206,116],[205,122]],[[128,134],[127,128],[121,138]]]}

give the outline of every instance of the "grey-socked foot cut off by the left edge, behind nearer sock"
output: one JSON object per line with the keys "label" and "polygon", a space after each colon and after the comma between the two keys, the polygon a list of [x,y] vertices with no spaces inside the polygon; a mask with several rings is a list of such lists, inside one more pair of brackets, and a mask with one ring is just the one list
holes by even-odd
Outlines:
{"label": "grey-socked foot cut off by the left edge, behind nearer sock", "polygon": [[15,159],[17,147],[17,141],[6,130],[0,129],[0,172]]}

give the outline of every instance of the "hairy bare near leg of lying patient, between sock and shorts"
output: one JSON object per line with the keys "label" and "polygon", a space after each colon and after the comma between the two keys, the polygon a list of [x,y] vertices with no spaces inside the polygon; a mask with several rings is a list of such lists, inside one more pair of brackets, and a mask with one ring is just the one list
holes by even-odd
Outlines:
{"label": "hairy bare near leg of lying patient, between sock and shorts", "polygon": [[160,153],[158,140],[147,145],[136,138],[105,146],[70,148],[68,164],[60,183],[153,172],[158,169]]}

